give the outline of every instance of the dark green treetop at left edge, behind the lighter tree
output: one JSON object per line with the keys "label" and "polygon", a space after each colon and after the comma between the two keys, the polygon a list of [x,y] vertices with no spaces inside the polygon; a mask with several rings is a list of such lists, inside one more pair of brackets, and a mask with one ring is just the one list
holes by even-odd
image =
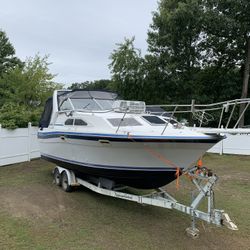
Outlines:
{"label": "dark green treetop at left edge, behind the lighter tree", "polygon": [[15,49],[6,33],[0,30],[0,77],[16,66],[22,66],[22,62],[15,56]]}

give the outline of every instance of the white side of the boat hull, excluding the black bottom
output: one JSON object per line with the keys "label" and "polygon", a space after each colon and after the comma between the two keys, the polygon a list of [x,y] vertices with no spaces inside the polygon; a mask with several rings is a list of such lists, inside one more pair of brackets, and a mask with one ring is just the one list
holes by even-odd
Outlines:
{"label": "white side of the boat hull, excluding the black bottom", "polygon": [[42,154],[85,164],[120,167],[192,166],[214,144],[137,143],[74,140],[60,138],[40,141]]}

